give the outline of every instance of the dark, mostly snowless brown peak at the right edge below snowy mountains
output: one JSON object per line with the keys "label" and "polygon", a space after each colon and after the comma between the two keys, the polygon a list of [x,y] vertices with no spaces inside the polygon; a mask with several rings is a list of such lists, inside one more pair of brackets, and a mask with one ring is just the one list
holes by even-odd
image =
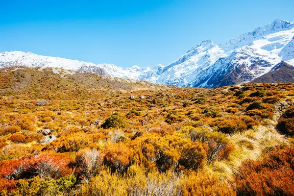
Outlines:
{"label": "dark, mostly snowless brown peak at the right edge below snowy mountains", "polygon": [[275,65],[270,72],[252,80],[256,83],[277,83],[277,82],[294,82],[294,66],[281,62]]}

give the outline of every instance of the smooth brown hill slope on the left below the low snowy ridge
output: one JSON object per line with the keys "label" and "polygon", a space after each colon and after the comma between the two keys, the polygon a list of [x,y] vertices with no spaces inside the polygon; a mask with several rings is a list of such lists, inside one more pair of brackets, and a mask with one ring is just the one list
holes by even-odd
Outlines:
{"label": "smooth brown hill slope on the left below the low snowy ridge", "polygon": [[117,91],[175,88],[61,68],[10,67],[0,69],[0,74],[0,95],[3,96],[27,94],[29,97],[38,98],[95,98],[112,95]]}

